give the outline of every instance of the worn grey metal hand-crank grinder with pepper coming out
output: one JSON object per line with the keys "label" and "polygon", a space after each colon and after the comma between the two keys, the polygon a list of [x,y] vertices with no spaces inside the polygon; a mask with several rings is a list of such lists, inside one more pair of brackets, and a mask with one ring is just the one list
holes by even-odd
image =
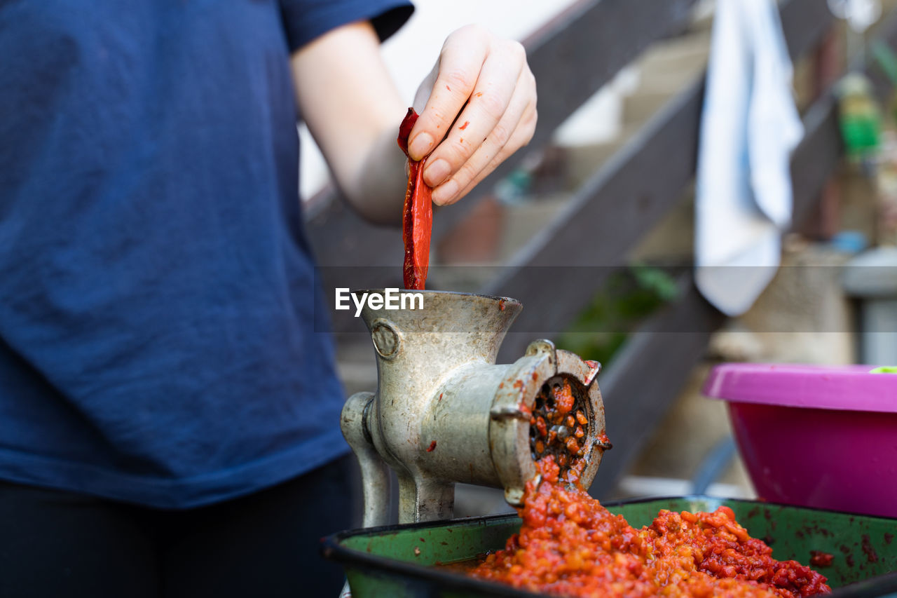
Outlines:
{"label": "worn grey metal hand-crank grinder with pepper coming out", "polygon": [[[509,504],[519,506],[536,475],[534,459],[553,450],[531,425],[539,409],[553,408],[544,400],[552,388],[570,389],[576,415],[565,420],[573,426],[547,431],[540,424],[542,432],[563,440],[576,430],[574,446],[585,460],[580,480],[588,488],[610,446],[595,381],[600,365],[548,340],[532,342],[513,364],[496,365],[522,309],[514,299],[389,289],[402,308],[388,310],[371,307],[388,305],[386,291],[354,295],[364,293],[361,317],[377,353],[378,388],[346,401],[341,427],[361,464],[365,527],[388,523],[387,465],[398,476],[399,523],[450,518],[456,482],[504,488]],[[396,293],[422,296],[400,302]]]}

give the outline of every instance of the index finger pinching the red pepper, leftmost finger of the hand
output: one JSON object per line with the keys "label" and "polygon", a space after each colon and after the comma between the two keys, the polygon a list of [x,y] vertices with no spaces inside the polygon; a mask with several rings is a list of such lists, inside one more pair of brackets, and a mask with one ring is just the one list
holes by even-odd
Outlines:
{"label": "index finger pinching the red pepper, leftmost finger of the hand", "polygon": [[430,154],[442,141],[474,92],[489,45],[486,36],[475,35],[471,29],[457,31],[442,47],[439,75],[409,136],[408,153],[414,160]]}

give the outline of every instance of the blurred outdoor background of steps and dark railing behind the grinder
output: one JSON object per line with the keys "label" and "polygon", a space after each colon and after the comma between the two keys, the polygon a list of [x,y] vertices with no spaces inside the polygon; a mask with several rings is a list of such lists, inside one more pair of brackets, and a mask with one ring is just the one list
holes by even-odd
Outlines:
{"label": "blurred outdoor background of steps and dark railing behind the grinder", "polygon": [[[544,337],[605,365],[598,380],[614,450],[595,496],[756,496],[725,404],[701,395],[714,364],[897,363],[897,283],[847,275],[857,263],[897,265],[897,61],[889,49],[897,47],[897,0],[864,3],[868,22],[839,18],[840,2],[779,2],[804,136],[790,161],[794,206],[781,266],[737,317],[710,305],[692,274],[715,2],[415,4],[413,20],[384,47],[409,105],[440,40],[466,22],[527,47],[539,91],[536,136],[475,195],[437,211],[428,288],[524,304],[500,363]],[[859,76],[844,83],[849,74]],[[868,138],[851,136],[845,119],[869,128]],[[321,276],[345,268],[357,281],[359,268],[386,266],[400,286],[400,234],[348,212],[301,135]],[[344,313],[334,321],[347,395],[373,390],[370,338]],[[501,491],[457,491],[458,516],[502,510]]]}

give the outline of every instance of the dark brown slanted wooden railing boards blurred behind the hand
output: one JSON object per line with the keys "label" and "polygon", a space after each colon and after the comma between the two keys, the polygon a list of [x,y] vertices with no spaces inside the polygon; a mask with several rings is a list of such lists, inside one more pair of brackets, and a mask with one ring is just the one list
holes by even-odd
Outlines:
{"label": "dark brown slanted wooden railing boards blurred behind the hand", "polygon": [[[529,64],[539,86],[539,125],[527,151],[539,151],[570,113],[653,42],[688,26],[695,0],[581,0],[525,40]],[[788,51],[797,59],[814,50],[832,28],[832,15],[820,0],[783,0],[781,19]],[[897,22],[880,29],[891,45]],[[876,79],[879,83],[881,78]],[[559,265],[622,267],[627,254],[684,197],[697,155],[703,76],[666,103],[639,133],[578,189],[543,233],[522,248],[501,276],[482,289],[512,296],[525,309],[502,346],[500,361],[520,355],[534,330],[564,330],[605,283],[612,268],[593,268],[590,276]],[[805,112],[806,136],[792,160],[795,225],[814,209],[820,191],[842,154],[836,103],[823,92]],[[500,180],[518,166],[519,152],[479,190],[457,207],[440,211],[434,243],[450,230]],[[334,198],[315,202],[309,236],[326,266],[390,266],[400,263],[399,235],[362,222]],[[534,277],[551,271],[551,285]],[[335,268],[338,269],[338,268]],[[397,270],[397,268],[395,268]],[[327,278],[328,268],[323,276]],[[353,285],[384,286],[382,270],[363,280],[353,268]],[[358,277],[361,276],[362,279]],[[327,283],[327,280],[325,280]],[[631,465],[681,389],[692,366],[704,355],[713,330],[724,317],[706,303],[685,275],[682,293],[654,315],[623,347],[601,375],[608,433],[614,451],[605,456],[592,488],[605,496]],[[398,281],[396,280],[396,286]],[[558,293],[550,289],[568,289]]]}

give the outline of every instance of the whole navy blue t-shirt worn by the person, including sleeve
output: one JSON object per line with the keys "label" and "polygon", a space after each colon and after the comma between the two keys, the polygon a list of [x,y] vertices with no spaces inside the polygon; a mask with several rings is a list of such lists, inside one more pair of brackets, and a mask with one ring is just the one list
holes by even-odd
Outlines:
{"label": "whole navy blue t-shirt worn by the person, including sleeve", "polygon": [[288,61],[410,12],[0,4],[0,479],[177,508],[347,450]]}

